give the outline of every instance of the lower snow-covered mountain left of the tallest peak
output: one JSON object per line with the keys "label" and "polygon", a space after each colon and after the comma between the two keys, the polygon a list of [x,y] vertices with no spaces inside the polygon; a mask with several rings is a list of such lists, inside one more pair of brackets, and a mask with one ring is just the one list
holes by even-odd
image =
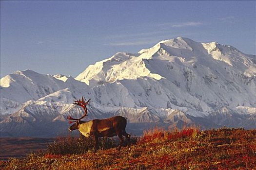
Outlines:
{"label": "lower snow-covered mountain left of the tallest peak", "polygon": [[[58,80],[61,78],[65,81]],[[14,113],[23,102],[38,100],[67,87],[83,89],[87,85],[71,76],[43,75],[29,69],[15,71],[0,80],[1,115]]]}

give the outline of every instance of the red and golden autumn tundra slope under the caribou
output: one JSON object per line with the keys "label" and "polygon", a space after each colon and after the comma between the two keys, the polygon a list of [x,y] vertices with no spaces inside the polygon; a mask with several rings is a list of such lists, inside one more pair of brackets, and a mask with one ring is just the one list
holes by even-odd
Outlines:
{"label": "red and golden autumn tundra slope under the caribou", "polygon": [[[79,139],[80,138],[80,139]],[[44,153],[0,162],[1,170],[256,170],[256,129],[181,131],[155,128],[117,151],[116,139],[103,139],[94,153],[91,140],[67,136]]]}

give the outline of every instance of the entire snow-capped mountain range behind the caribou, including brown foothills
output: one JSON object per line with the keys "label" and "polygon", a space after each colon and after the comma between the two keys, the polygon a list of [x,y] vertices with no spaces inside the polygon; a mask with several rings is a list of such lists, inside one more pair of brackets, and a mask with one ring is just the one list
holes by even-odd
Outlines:
{"label": "entire snow-capped mountain range behind the caribou, including brown foothills", "polygon": [[65,116],[82,115],[72,104],[81,96],[91,99],[87,119],[122,115],[134,133],[156,124],[256,128],[256,56],[177,37],[118,52],[75,79],[16,71],[1,79],[1,133],[29,136],[44,122],[66,128]]}

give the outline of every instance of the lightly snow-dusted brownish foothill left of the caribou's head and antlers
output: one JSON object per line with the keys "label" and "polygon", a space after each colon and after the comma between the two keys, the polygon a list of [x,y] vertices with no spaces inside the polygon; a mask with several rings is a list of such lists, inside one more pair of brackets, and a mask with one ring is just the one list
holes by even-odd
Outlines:
{"label": "lightly snow-dusted brownish foothill left of the caribou's head and antlers", "polygon": [[[73,104],[58,102],[25,102],[22,108],[7,116],[1,121],[1,134],[11,134],[12,136],[53,136],[61,132],[66,123],[56,122],[54,119],[59,115],[78,114],[79,108]],[[63,119],[59,118],[64,121]]]}

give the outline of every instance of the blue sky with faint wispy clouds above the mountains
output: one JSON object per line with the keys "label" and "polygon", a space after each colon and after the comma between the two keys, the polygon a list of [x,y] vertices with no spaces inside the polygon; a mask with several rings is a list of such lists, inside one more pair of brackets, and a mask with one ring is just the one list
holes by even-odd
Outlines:
{"label": "blue sky with faint wispy clouds above the mountains", "polygon": [[256,54],[256,1],[0,1],[0,77],[76,77],[118,51],[183,36]]}

